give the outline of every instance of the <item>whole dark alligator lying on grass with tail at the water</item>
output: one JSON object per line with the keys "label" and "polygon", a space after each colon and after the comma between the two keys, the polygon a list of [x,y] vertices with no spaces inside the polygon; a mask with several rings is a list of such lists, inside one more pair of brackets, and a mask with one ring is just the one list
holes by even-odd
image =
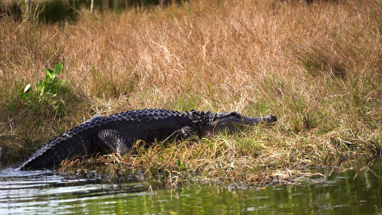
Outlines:
{"label": "whole dark alligator lying on grass with tail at the water", "polygon": [[246,117],[235,111],[171,111],[142,109],[95,116],[50,140],[19,163],[18,169],[54,168],[63,160],[93,153],[129,153],[133,143],[234,132],[244,125],[276,122],[277,117]]}

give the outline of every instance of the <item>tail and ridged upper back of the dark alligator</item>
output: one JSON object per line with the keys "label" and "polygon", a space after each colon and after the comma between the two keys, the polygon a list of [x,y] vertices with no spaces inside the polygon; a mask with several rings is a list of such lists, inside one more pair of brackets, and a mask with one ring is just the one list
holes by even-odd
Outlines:
{"label": "tail and ridged upper back of the dark alligator", "polygon": [[[62,160],[76,155],[94,153],[97,150],[97,132],[110,127],[121,127],[130,122],[152,122],[158,120],[188,118],[186,112],[170,111],[163,109],[142,109],[121,112],[110,116],[95,116],[86,122],[79,124],[64,134],[50,140],[32,156],[24,159],[19,168],[38,169],[47,164],[60,163]],[[189,118],[188,118],[189,119]],[[123,121],[123,123],[118,123]],[[176,122],[176,121],[172,121]],[[144,123],[145,124],[145,123]]]}

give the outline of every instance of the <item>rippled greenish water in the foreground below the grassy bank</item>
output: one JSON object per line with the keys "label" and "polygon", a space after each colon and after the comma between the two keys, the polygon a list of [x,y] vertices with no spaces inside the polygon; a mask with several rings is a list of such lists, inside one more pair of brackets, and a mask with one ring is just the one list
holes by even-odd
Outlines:
{"label": "rippled greenish water in the foreground below the grassy bank", "polygon": [[146,181],[105,184],[49,171],[0,172],[0,214],[381,214],[382,162],[322,169],[326,178],[288,186]]}

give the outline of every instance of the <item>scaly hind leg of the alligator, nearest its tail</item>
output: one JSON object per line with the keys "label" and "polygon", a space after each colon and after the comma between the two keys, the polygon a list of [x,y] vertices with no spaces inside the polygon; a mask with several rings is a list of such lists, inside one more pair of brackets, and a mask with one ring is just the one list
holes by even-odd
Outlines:
{"label": "scaly hind leg of the alligator, nearest its tail", "polygon": [[102,142],[101,147],[118,154],[125,154],[131,148],[130,141],[120,132],[114,129],[104,129],[98,132],[98,138]]}

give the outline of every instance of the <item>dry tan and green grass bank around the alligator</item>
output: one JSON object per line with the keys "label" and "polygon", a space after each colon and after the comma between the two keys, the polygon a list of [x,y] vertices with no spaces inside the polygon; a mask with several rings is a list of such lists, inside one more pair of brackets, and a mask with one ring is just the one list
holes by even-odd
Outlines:
{"label": "dry tan and green grass bank around the alligator", "polygon": [[[137,155],[95,158],[103,164],[99,170],[165,176],[170,183],[178,175],[256,183],[276,177],[278,169],[380,156],[381,11],[381,0],[246,0],[190,1],[118,15],[82,10],[77,22],[55,25],[3,16],[3,166],[92,116],[141,108],[233,109],[280,121],[197,142],[149,149],[137,143]],[[22,113],[17,92],[58,61],[64,64],[59,77],[67,80],[57,94],[63,115],[49,106]],[[113,160],[124,161],[110,165]],[[290,171],[280,177],[292,177]]]}

